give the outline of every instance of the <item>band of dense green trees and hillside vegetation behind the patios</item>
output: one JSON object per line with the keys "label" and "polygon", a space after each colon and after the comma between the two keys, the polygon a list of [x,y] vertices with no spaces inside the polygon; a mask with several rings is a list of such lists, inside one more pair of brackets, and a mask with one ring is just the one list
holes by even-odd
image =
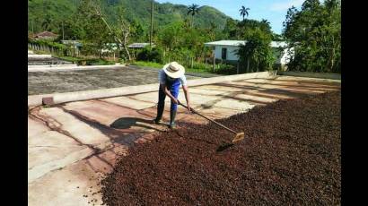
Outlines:
{"label": "band of dense green trees and hillside vegetation behind the patios", "polygon": [[[219,64],[212,68],[211,50],[204,47],[205,42],[247,40],[238,51],[238,68],[241,73],[249,73],[273,69],[275,51],[269,45],[272,40],[286,40],[294,55],[288,64],[289,70],[341,72],[339,0],[326,0],[323,4],[306,0],[301,11],[290,8],[282,35],[273,33],[267,20],[248,19],[251,9],[245,6],[239,10],[242,21],[237,21],[209,6],[154,3],[155,47],[127,49],[133,42],[149,42],[151,3],[151,0],[32,0],[29,2],[29,32],[56,32],[59,34],[56,42],[63,36],[78,39],[83,43],[83,56],[110,56],[103,50],[118,45],[114,56],[123,61],[136,59],[159,64],[178,61],[187,67],[214,73],[237,73],[237,65]],[[30,42],[37,43],[31,39]],[[41,44],[74,56],[75,52],[56,42]]]}

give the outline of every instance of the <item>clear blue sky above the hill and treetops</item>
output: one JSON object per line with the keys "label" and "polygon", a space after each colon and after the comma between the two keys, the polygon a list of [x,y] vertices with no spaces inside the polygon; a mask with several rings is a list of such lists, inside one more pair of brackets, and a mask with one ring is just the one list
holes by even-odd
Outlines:
{"label": "clear blue sky above the hill and treetops", "polygon": [[250,8],[249,19],[266,19],[271,23],[274,32],[280,34],[283,30],[283,21],[287,9],[294,5],[299,9],[303,0],[155,0],[159,3],[170,2],[171,4],[198,4],[210,5],[232,17],[241,20],[239,9],[241,5]]}

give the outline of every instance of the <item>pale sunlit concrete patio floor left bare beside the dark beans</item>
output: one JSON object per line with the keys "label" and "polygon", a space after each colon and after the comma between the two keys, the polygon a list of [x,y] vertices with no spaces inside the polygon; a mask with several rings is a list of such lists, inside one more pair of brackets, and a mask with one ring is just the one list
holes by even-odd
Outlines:
{"label": "pale sunlit concrete patio floor left bare beside the dark beans", "polygon": [[[192,87],[189,84],[189,90],[192,107],[206,116],[223,118],[278,99],[340,90],[340,85],[340,81],[276,76]],[[153,133],[167,130],[165,125],[149,122],[155,116],[157,99],[157,91],[150,91],[54,107],[31,107],[29,205],[101,205],[99,181],[111,171],[118,156],[127,155],[135,143],[152,140]],[[182,91],[179,99],[185,102]],[[166,102],[167,121],[170,100]],[[187,114],[182,107],[177,120],[207,123],[200,116]]]}

